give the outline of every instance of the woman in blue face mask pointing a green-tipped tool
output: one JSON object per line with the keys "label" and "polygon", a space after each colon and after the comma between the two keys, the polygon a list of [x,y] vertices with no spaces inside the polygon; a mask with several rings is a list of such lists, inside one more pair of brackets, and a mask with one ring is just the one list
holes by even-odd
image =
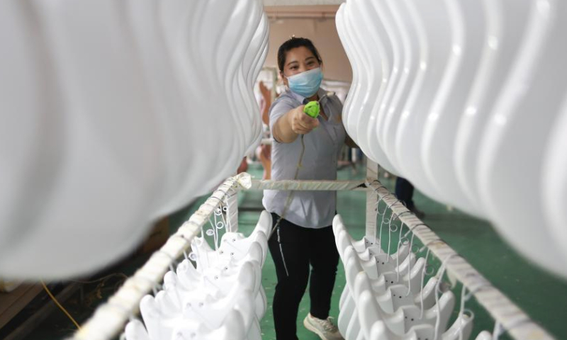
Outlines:
{"label": "woman in blue face mask pointing a green-tipped tool", "polygon": [[[277,59],[286,91],[269,111],[271,179],[335,180],[342,145],[356,146],[342,125],[341,102],[320,88],[319,52],[310,40],[291,38],[279,47]],[[303,112],[309,101],[320,101],[318,118]],[[332,232],[336,203],[337,194],[330,191],[264,191],[264,207],[274,219],[269,249],[278,278],[273,305],[277,340],[298,339],[298,307],[309,279],[311,306],[303,324],[321,339],[342,339],[329,319],[339,262]]]}

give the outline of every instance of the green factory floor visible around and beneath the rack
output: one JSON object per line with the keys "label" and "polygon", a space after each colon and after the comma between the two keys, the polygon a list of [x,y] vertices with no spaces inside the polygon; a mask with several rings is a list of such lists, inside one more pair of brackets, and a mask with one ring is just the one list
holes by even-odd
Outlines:
{"label": "green factory floor visible around and beneath the rack", "polygon": [[[364,166],[357,169],[351,167],[339,171],[339,179],[362,179],[364,178]],[[262,176],[261,168],[251,164],[249,173],[256,178]],[[393,179],[381,179],[382,183],[393,190]],[[342,215],[345,225],[353,237],[359,239],[364,235],[365,219],[365,195],[361,192],[341,191],[338,193],[337,211]],[[541,271],[529,261],[520,257],[514,250],[507,246],[491,227],[488,222],[477,220],[464,215],[458,210],[448,209],[447,206],[430,200],[416,191],[414,197],[416,205],[423,210],[427,216],[424,222],[429,225],[439,237],[442,237],[453,249],[464,256],[479,272],[499,288],[512,301],[517,303],[529,316],[542,327],[547,329],[556,339],[567,339],[567,283]],[[198,208],[203,198],[193,203],[188,208],[176,212],[170,218],[171,231],[181,225],[184,220]],[[239,193],[239,229],[245,234],[251,232],[259,217],[259,209],[262,208],[261,191],[242,191]],[[120,271],[131,275],[137,266],[140,266],[147,256],[123,263],[113,271]],[[439,263],[437,262],[437,268]],[[266,316],[261,322],[264,340],[275,339],[273,319],[271,313],[271,300],[276,286],[276,273],[271,258],[266,260],[262,271],[262,282],[269,300],[269,308]],[[115,281],[116,282],[116,281]],[[100,283],[92,283],[84,288],[87,297],[94,302],[86,306],[84,299],[74,296],[67,300],[66,307],[79,321],[89,317],[96,305],[105,300],[116,287],[112,281],[106,283],[106,288],[99,287]],[[344,288],[345,279],[342,265],[339,264],[337,282],[333,292],[332,310],[333,317],[338,317],[339,297]],[[454,288],[457,298],[460,296],[460,287]],[[459,305],[459,302],[457,302]],[[466,307],[475,313],[473,336],[483,329],[492,330],[493,319],[476,305],[474,300],[467,302]],[[301,340],[317,340],[318,336],[305,330],[303,317],[309,310],[309,296],[306,294],[301,302],[298,319],[298,337]],[[454,312],[456,315],[456,312]],[[74,329],[71,322],[59,311],[53,312],[40,326],[26,339],[55,340],[63,339]],[[0,336],[1,338],[1,336]],[[474,339],[474,338],[472,338]],[[508,339],[501,336],[500,339]]]}

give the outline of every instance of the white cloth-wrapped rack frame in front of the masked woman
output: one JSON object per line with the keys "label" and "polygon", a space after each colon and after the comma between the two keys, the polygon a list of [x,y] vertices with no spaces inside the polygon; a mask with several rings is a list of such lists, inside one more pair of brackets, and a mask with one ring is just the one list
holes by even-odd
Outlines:
{"label": "white cloth-wrapped rack frame in front of the masked woman", "polygon": [[188,221],[156,251],[107,302],[98,307],[92,317],[75,332],[71,340],[111,340],[121,334],[125,323],[137,313],[142,297],[162,282],[164,274],[173,268],[176,259],[190,249],[191,240],[201,233],[203,226],[221,207],[226,207],[227,231],[238,228],[237,193],[241,190],[294,190],[294,191],[365,191],[366,237],[376,237],[378,203],[392,210],[391,218],[398,218],[425,244],[430,254],[442,261],[444,270],[473,295],[478,303],[495,319],[495,331],[507,331],[517,340],[554,340],[529,316],[517,307],[498,288],[478,273],[466,259],[451,249],[427,225],[415,217],[400,200],[378,181],[378,165],[368,160],[365,181],[259,181],[249,174],[230,177],[191,215]]}

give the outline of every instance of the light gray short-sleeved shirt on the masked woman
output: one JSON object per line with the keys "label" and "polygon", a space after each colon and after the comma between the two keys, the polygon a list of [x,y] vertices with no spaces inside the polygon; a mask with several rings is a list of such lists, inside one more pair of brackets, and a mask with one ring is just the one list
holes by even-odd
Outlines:
{"label": "light gray short-sleeved shirt on the masked woman", "polygon": [[[327,91],[319,89],[319,98]],[[303,105],[305,97],[286,91],[270,107],[270,130],[285,113]],[[347,132],[342,125],[342,103],[337,96],[321,102],[328,120],[319,116],[320,125],[304,135],[305,154],[297,179],[337,179],[337,159]],[[272,137],[271,179],[293,179],[301,156],[301,135],[291,143],[281,143]],[[262,203],[269,212],[283,214],[291,193],[291,203],[284,219],[307,228],[322,228],[332,225],[337,210],[337,193],[334,191],[279,191],[264,190]]]}

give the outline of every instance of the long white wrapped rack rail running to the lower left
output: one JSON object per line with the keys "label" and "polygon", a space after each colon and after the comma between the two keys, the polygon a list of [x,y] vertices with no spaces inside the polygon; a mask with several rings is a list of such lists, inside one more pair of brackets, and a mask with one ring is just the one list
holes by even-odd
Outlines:
{"label": "long white wrapped rack rail running to the lower left", "polygon": [[201,232],[203,225],[208,223],[209,217],[221,203],[225,202],[225,197],[231,192],[235,193],[239,185],[249,188],[249,181],[249,174],[240,174],[230,177],[221,184],[210,198],[191,215],[189,221],[181,225],[142,268],[128,278],[106,303],[98,307],[93,316],[70,339],[109,340],[120,334],[125,322],[128,322],[128,319],[137,312],[142,297],[162,282],[174,260],[181,257],[184,251],[189,250],[191,239]]}

